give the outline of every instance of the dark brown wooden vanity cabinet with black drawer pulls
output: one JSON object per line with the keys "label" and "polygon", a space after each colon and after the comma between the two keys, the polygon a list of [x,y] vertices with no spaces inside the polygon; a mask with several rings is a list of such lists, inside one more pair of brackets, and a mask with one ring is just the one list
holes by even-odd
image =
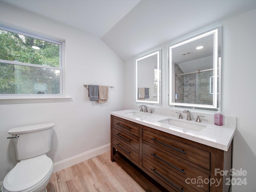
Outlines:
{"label": "dark brown wooden vanity cabinet with black drawer pulls", "polygon": [[228,192],[232,144],[228,151],[180,138],[111,115],[111,160],[116,150],[168,191]]}

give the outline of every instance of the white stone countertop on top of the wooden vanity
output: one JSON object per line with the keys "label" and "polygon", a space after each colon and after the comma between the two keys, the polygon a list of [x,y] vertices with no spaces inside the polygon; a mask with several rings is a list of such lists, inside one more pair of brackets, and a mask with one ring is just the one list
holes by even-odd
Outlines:
{"label": "white stone countertop on top of the wooden vanity", "polygon": [[[230,143],[234,137],[236,127],[232,126],[217,126],[212,122],[195,122],[194,120],[188,121],[186,119],[178,119],[170,116],[164,116],[160,114],[149,114],[139,112],[136,110],[121,110],[110,112],[111,115],[144,125],[156,130],[160,130],[166,133],[170,133],[194,142],[198,142],[207,146],[211,146],[220,150],[228,151]],[[206,126],[200,131],[190,130],[186,128],[180,128],[158,122],[164,119],[170,118],[172,120],[190,123],[193,125]]]}

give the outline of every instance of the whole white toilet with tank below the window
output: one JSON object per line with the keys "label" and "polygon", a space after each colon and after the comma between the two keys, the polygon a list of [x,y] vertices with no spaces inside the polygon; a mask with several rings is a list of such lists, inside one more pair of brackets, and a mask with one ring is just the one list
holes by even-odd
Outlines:
{"label": "whole white toilet with tank below the window", "polygon": [[12,135],[16,158],[20,160],[8,172],[2,192],[47,192],[46,186],[53,171],[53,162],[46,156],[50,150],[54,123],[16,127]]}

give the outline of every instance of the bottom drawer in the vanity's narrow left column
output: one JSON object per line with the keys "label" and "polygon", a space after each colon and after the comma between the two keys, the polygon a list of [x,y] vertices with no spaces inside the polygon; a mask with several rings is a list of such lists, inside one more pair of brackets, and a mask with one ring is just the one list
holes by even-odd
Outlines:
{"label": "bottom drawer in the vanity's narrow left column", "polygon": [[124,156],[126,156],[129,160],[135,161],[137,163],[140,162],[139,153],[124,144],[121,140],[116,137],[113,137],[113,147],[116,148],[119,152],[121,152]]}

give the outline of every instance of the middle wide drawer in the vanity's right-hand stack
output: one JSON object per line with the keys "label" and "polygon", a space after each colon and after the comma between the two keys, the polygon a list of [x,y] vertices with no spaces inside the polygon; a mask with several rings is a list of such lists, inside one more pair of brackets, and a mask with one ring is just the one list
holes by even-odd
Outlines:
{"label": "middle wide drawer in the vanity's right-hand stack", "polygon": [[[175,177],[178,177],[183,182],[186,182],[187,178],[201,178],[209,179],[210,176],[201,170],[198,170],[178,159],[175,158],[175,155],[170,156],[164,152],[161,152],[160,150],[157,150],[156,148],[153,148],[152,146],[149,146],[145,143],[143,143],[143,160],[147,158],[148,160],[154,162],[154,164],[157,164],[167,172],[172,173]],[[147,161],[147,160],[146,160]],[[144,162],[143,162],[144,165]],[[197,188],[196,185],[193,186],[193,184],[190,184],[192,187],[200,190],[200,188]],[[203,186],[200,186],[205,191],[209,190],[209,184],[204,184]]]}

